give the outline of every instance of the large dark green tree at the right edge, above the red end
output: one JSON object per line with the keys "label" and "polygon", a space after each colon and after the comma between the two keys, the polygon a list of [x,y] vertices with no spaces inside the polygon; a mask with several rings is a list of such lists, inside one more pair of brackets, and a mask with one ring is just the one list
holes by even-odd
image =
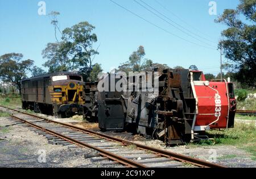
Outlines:
{"label": "large dark green tree at the right edge, above the red end", "polygon": [[[242,22],[241,15],[247,21]],[[236,10],[224,10],[216,22],[228,26],[222,31],[223,39],[219,44],[226,59],[232,61],[228,68],[237,72],[234,77],[243,87],[256,86],[256,1],[241,0]]]}

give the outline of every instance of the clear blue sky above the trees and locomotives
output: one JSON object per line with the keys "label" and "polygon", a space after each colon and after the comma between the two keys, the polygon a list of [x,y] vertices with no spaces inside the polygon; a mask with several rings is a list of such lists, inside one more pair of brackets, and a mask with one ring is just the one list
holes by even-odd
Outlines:
{"label": "clear blue sky above the trees and locomotives", "polygon": [[[226,27],[214,23],[217,15],[209,15],[209,0],[157,0],[166,9],[155,0],[143,0],[167,18],[197,34],[195,37],[200,41],[187,35],[191,32],[184,34],[143,9],[133,0],[113,1],[168,32],[144,22],[109,0],[46,0],[44,2],[46,2],[47,14],[51,11],[60,12],[58,18],[61,30],[82,21],[88,21],[96,27],[94,32],[98,36],[98,43],[95,47],[100,45],[98,49],[100,55],[96,56],[96,62],[100,63],[105,71],[113,67],[117,68],[119,64],[127,61],[129,55],[139,45],[144,46],[145,57],[156,63],[171,67],[180,65],[185,68],[195,64],[205,73],[217,74],[220,71],[220,52],[210,48],[217,48],[221,31]],[[42,66],[46,61],[41,53],[47,43],[55,42],[54,28],[48,16],[38,15],[38,2],[37,0],[0,0],[0,55],[11,52],[23,53],[24,60],[34,60],[38,66]],[[221,14],[224,9],[236,8],[239,3],[238,0],[215,2],[217,14]],[[200,46],[209,47],[208,44],[213,47]]]}

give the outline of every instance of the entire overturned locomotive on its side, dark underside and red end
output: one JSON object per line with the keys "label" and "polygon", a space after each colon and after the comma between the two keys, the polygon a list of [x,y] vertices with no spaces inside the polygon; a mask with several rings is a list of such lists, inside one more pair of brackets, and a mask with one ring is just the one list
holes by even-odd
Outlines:
{"label": "entire overturned locomotive on its side, dark underside and red end", "polygon": [[[153,84],[151,89],[147,87],[149,83]],[[113,89],[113,84],[121,84],[126,90]],[[200,71],[155,69],[150,77],[147,73],[144,77],[110,74],[99,85],[105,87],[98,90],[92,108],[104,131],[133,128],[139,134],[172,145],[208,139],[205,131],[234,126],[233,84],[225,80],[206,81]]]}

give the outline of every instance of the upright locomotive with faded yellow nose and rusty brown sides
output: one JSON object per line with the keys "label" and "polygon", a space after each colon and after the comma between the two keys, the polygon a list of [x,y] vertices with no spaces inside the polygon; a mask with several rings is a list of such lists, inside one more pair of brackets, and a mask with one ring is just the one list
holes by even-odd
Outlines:
{"label": "upright locomotive with faded yellow nose and rusty brown sides", "polygon": [[22,80],[22,108],[65,118],[82,114],[84,82],[75,73],[60,72]]}

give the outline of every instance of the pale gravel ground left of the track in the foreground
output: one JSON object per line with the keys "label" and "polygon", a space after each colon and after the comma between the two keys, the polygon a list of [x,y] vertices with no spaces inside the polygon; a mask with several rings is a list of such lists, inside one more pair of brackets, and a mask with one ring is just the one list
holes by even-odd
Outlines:
{"label": "pale gravel ground left of the track in the foreground", "polygon": [[48,144],[46,138],[32,132],[26,124],[4,127],[10,124],[14,124],[13,119],[0,118],[0,167],[120,166],[108,160],[93,160],[90,157],[97,156],[97,153],[92,149]]}

